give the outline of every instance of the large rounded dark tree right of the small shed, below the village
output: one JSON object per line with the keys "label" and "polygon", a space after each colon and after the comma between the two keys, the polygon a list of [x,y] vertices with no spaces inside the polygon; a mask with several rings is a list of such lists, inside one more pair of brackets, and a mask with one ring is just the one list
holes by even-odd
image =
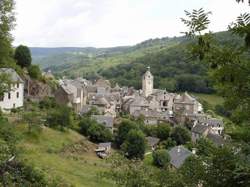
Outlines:
{"label": "large rounded dark tree right of the small shed, below the village", "polygon": [[143,159],[146,150],[146,140],[143,132],[130,130],[122,144],[122,150],[129,159]]}

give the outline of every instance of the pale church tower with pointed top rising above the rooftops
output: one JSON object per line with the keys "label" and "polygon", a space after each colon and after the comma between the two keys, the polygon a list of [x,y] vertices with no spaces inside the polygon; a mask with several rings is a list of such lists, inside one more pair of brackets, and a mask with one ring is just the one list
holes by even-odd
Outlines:
{"label": "pale church tower with pointed top rising above the rooftops", "polygon": [[142,91],[145,97],[148,97],[153,93],[154,89],[154,76],[150,72],[150,67],[146,73],[142,76]]}

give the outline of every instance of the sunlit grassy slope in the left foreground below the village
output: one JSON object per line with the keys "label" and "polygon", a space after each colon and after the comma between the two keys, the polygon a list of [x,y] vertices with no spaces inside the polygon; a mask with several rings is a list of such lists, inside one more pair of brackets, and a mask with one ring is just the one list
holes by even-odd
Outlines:
{"label": "sunlit grassy slope in the left foreground below the village", "polygon": [[[21,127],[20,130],[25,132],[27,129]],[[65,146],[80,141],[89,147],[89,151],[80,153],[61,151]],[[59,132],[44,128],[39,134],[39,139],[24,133],[20,147],[24,150],[22,157],[28,163],[45,170],[48,178],[60,177],[68,184],[81,187],[112,186],[110,181],[97,177],[99,172],[107,169],[107,166],[105,161],[94,154],[95,144],[74,131]]]}

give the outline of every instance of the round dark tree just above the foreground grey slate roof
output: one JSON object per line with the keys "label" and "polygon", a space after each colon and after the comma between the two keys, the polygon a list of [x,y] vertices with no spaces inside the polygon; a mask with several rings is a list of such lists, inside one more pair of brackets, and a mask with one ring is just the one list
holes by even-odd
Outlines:
{"label": "round dark tree just above the foreground grey slate roof", "polygon": [[182,145],[191,140],[190,133],[184,127],[175,127],[171,133],[171,138],[177,143]]}

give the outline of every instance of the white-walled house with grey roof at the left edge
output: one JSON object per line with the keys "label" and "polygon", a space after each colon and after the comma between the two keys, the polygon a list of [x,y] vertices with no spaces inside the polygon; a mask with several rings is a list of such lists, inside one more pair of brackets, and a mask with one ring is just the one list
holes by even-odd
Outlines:
{"label": "white-walled house with grey roof at the left edge", "polygon": [[23,106],[24,100],[24,81],[11,68],[0,68],[0,74],[8,74],[11,81],[11,89],[0,97],[0,109],[3,112],[8,112],[13,108],[20,108]]}

